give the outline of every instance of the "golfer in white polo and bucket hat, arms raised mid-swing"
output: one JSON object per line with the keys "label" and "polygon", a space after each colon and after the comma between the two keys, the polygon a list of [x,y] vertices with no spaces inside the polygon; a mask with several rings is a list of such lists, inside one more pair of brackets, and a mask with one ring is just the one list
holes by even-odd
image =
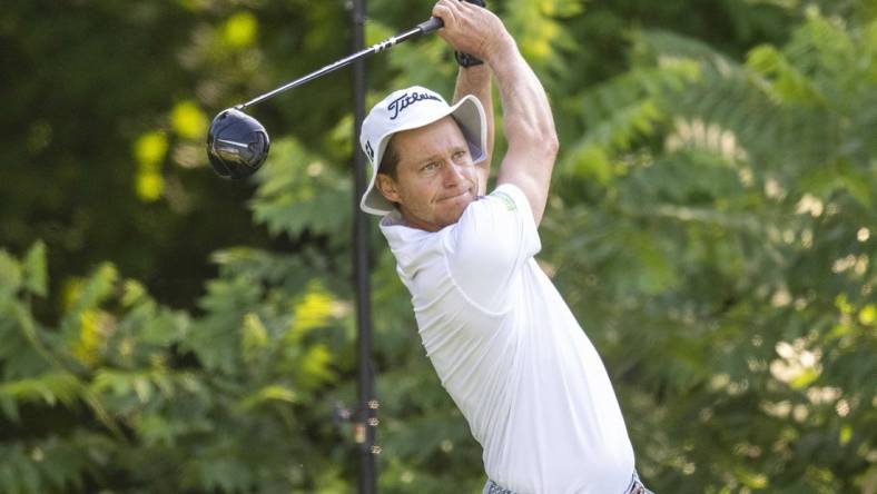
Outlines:
{"label": "golfer in white polo and bucket hat, arms raised mid-swing", "polygon": [[[371,110],[361,207],[383,216],[423,346],[483,447],[483,492],[648,493],[605,368],[533,258],[558,152],[545,91],[489,10],[440,0],[433,16],[470,55],[456,103],[412,87]],[[509,147],[485,196],[491,75]]]}

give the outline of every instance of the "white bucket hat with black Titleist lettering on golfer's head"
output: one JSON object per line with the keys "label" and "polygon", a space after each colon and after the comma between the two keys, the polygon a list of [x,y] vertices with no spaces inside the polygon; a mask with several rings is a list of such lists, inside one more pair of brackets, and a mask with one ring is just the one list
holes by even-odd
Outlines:
{"label": "white bucket hat with black Titleist lettering on golfer's head", "polygon": [[484,159],[484,149],[487,147],[487,125],[484,108],[481,101],[472,95],[463,97],[456,105],[449,106],[444,98],[435,91],[421,86],[393,91],[380,103],[372,108],[363,121],[359,136],[365,156],[372,164],[372,175],[368,187],[359,201],[359,208],[372,215],[386,215],[395,209],[375,187],[375,177],[384,158],[387,142],[394,134],[403,130],[416,129],[427,126],[446,116],[454,118],[469,142],[472,160],[479,162]]}

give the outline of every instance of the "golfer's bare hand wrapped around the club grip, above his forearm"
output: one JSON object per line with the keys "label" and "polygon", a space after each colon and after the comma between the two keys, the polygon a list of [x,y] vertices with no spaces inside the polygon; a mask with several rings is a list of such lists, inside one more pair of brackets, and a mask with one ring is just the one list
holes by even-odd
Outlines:
{"label": "golfer's bare hand wrapped around the club grip, above his forearm", "polygon": [[455,50],[490,62],[491,56],[514,43],[500,18],[487,9],[460,0],[438,0],[433,16],[444,21],[438,30]]}

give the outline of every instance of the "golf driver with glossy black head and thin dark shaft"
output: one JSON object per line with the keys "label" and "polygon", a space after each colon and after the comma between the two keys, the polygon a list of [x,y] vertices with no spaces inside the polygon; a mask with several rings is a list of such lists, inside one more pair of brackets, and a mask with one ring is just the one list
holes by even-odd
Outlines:
{"label": "golf driver with glossy black head and thin dark shaft", "polygon": [[207,156],[210,158],[210,165],[214,170],[223,178],[240,180],[255,174],[268,157],[268,150],[270,149],[268,132],[258,120],[245,113],[244,109],[334,72],[361,58],[384,51],[403,41],[431,33],[443,26],[441,19],[430,18],[430,20],[421,22],[415,28],[387,38],[371,48],[357,51],[319,70],[257,96],[247,102],[220,111],[214,118],[207,134]]}

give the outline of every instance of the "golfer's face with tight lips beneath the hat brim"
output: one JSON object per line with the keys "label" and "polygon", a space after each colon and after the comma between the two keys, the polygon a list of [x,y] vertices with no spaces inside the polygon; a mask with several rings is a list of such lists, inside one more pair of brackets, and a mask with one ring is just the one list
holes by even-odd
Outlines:
{"label": "golfer's face with tight lips beneath the hat brim", "polygon": [[475,200],[477,174],[463,132],[451,117],[393,136],[396,178],[380,174],[377,188],[397,202],[414,228],[437,231],[455,224]]}

